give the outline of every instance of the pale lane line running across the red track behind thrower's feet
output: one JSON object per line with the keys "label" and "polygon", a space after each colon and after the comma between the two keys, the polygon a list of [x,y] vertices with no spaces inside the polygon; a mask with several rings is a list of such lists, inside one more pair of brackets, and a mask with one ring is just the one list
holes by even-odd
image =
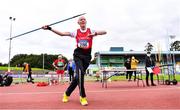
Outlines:
{"label": "pale lane line running across the red track behind thrower's feet", "polygon": [[[159,91],[159,90],[172,90],[179,89],[180,87],[170,87],[170,88],[140,88],[140,89],[119,89],[119,90],[99,90],[99,91],[87,91],[87,93],[109,93],[109,92],[134,92],[134,91]],[[76,91],[79,92],[79,91]],[[75,92],[75,93],[76,93]],[[63,94],[64,92],[9,92],[0,93],[2,95],[39,95],[39,94]]]}

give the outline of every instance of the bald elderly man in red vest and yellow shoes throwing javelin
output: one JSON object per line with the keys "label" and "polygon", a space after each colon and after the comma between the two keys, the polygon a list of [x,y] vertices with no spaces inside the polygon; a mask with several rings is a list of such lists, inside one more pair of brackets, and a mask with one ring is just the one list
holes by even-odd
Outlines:
{"label": "bald elderly man in red vest and yellow shoes throwing javelin", "polygon": [[80,28],[74,32],[60,32],[52,29],[48,25],[42,27],[43,29],[50,30],[60,36],[70,36],[76,39],[77,48],[74,50],[73,54],[76,64],[76,76],[63,95],[62,101],[64,103],[68,102],[69,96],[78,85],[80,91],[80,103],[81,105],[88,105],[84,88],[84,75],[91,61],[92,41],[94,36],[104,35],[106,34],[106,31],[91,30],[86,27],[86,23],[87,21],[84,16],[79,17],[78,24]]}

